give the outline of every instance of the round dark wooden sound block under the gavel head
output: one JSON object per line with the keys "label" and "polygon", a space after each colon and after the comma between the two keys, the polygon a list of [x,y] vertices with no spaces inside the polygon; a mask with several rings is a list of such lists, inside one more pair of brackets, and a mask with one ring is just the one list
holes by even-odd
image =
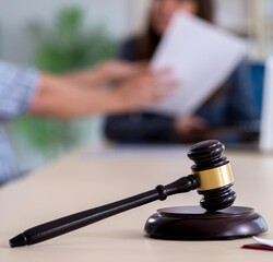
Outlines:
{"label": "round dark wooden sound block under the gavel head", "polygon": [[144,230],[158,239],[232,240],[265,233],[268,226],[250,207],[230,206],[210,213],[200,206],[180,206],[158,210],[149,217]]}

